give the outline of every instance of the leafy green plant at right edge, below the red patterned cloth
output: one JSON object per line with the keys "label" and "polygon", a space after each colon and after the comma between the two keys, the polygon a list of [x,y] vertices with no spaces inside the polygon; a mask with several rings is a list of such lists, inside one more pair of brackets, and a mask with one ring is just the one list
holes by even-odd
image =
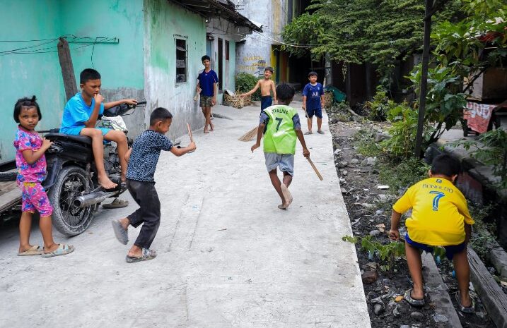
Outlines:
{"label": "leafy green plant at right edge, below the red patterned cloth", "polygon": [[487,131],[476,140],[453,142],[451,145],[461,145],[470,152],[470,157],[480,162],[493,166],[493,173],[499,176],[500,181],[496,183],[499,188],[507,188],[507,133],[502,129]]}

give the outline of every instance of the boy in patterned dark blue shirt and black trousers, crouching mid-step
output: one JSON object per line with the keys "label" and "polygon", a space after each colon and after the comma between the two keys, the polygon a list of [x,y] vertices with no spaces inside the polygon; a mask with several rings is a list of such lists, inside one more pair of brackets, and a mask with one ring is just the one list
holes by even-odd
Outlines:
{"label": "boy in patterned dark blue shirt and black trousers, crouching mid-step", "polygon": [[152,260],[157,255],[154,250],[150,250],[150,246],[161,222],[161,202],[153,178],[161,150],[172,152],[178,157],[195,150],[193,141],[185,148],[173,147],[173,143],[165,136],[172,121],[173,115],[167,109],[155,109],[150,116],[150,127],[136,138],[125,155],[129,162],[127,188],[139,209],[128,217],[112,221],[112,229],[118,241],[127,245],[129,225],[136,228],[143,224],[125,259],[129,263]]}

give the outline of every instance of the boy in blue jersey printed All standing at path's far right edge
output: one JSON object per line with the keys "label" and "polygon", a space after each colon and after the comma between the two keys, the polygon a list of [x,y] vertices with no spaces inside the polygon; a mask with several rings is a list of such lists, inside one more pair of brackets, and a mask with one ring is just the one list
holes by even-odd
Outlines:
{"label": "boy in blue jersey printed All standing at path's far right edge", "polygon": [[322,127],[322,107],[324,107],[324,87],[320,83],[317,83],[317,73],[308,73],[308,80],[310,83],[305,85],[303,89],[303,110],[306,112],[308,119],[308,132],[305,135],[312,134],[312,119],[313,116],[317,116],[317,133],[321,135],[324,131]]}

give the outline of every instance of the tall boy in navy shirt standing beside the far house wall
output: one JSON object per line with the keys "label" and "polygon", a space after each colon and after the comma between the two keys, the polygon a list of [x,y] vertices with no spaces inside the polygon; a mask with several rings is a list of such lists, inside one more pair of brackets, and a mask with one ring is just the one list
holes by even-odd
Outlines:
{"label": "tall boy in navy shirt standing beside the far house wall", "polygon": [[218,75],[210,67],[209,56],[202,56],[201,60],[204,71],[197,76],[197,93],[201,94],[199,106],[202,108],[202,114],[204,114],[204,133],[208,133],[208,125],[209,130],[214,130],[214,125],[211,123],[211,107],[216,104]]}

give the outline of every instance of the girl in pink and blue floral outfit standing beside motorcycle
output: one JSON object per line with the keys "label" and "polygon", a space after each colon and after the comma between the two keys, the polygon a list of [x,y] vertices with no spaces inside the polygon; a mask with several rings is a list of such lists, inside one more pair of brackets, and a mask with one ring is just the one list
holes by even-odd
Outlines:
{"label": "girl in pink and blue floral outfit standing beside motorcycle", "polygon": [[[19,222],[19,253],[25,255],[42,255],[53,257],[66,255],[74,251],[74,246],[57,244],[53,241],[51,214],[53,207],[49,203],[42,181],[46,176],[45,151],[52,142],[40,138],[35,132],[35,126],[42,119],[39,104],[33,96],[31,99],[22,98],[14,105],[14,121],[19,123],[16,131],[16,166],[18,178],[16,182],[21,189],[21,220]],[[30,244],[30,230],[32,216],[35,210],[40,214],[40,232],[44,240],[44,248]]]}

